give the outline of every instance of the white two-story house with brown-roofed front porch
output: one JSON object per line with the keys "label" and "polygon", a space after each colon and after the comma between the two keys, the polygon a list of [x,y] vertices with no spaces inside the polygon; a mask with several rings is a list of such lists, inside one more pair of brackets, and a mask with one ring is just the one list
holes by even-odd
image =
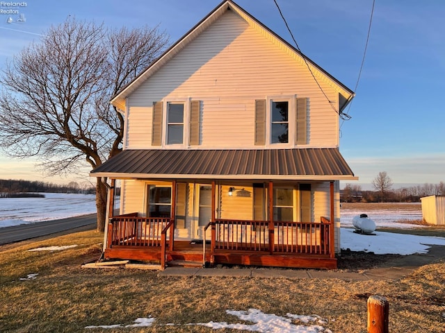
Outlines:
{"label": "white two-story house with brown-roofed front porch", "polygon": [[339,114],[353,92],[233,1],[124,87],[107,259],[337,267]]}

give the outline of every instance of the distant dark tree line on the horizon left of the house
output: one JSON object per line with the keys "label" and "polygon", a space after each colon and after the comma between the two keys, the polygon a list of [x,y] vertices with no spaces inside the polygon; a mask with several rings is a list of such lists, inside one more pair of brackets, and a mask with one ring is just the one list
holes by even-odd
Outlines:
{"label": "distant dark tree line on the horizon left of the house", "polygon": [[38,180],[0,179],[0,197],[14,197],[19,193],[29,192],[95,194],[96,189],[89,184],[79,185],[78,182],[69,182],[67,185],[58,185],[52,182],[42,182]]}

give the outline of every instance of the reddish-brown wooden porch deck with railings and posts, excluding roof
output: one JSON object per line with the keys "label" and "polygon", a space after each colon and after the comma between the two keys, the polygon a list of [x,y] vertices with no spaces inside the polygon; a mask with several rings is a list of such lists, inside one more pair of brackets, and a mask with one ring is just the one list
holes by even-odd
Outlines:
{"label": "reddish-brown wooden porch deck with railings and posts, excluding roof", "polygon": [[[111,198],[114,197],[111,180]],[[268,182],[266,212],[263,220],[218,218],[216,193],[222,185],[211,182],[211,214],[202,228],[201,239],[175,239],[175,219],[181,205],[171,205],[168,217],[138,216],[137,212],[113,216],[113,200],[108,210],[106,226],[106,259],[131,259],[183,266],[216,264],[279,266],[292,268],[337,268],[334,248],[334,182],[329,183],[330,216],[319,221],[274,221],[273,182]],[[209,186],[209,187],[210,187]],[[172,189],[177,189],[172,181]],[[229,187],[234,189],[234,187]],[[172,191],[172,203],[177,203],[178,191]],[[275,200],[276,204],[276,200]],[[183,213],[181,213],[183,214]]]}

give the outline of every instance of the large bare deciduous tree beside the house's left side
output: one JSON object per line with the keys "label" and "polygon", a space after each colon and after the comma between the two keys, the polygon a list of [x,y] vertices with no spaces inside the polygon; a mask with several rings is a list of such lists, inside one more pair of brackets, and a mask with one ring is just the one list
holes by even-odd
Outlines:
{"label": "large bare deciduous tree beside the house's left side", "polygon": [[[37,156],[48,175],[98,167],[122,150],[124,119],[109,103],[157,58],[168,36],[155,28],[108,30],[69,18],[49,28],[0,76],[0,144],[12,157]],[[97,230],[106,187],[97,179]]]}

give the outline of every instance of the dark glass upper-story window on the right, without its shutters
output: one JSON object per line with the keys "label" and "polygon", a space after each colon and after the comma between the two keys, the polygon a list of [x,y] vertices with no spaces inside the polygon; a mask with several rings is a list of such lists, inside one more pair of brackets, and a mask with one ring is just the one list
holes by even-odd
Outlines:
{"label": "dark glass upper-story window on the right, without its shutters", "polygon": [[272,101],[270,143],[289,143],[289,101]]}

